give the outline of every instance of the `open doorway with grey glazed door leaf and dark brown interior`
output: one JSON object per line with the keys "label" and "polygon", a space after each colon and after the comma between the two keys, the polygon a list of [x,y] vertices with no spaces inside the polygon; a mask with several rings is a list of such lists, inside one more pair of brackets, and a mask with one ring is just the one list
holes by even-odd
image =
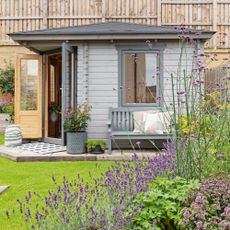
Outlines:
{"label": "open doorway with grey glazed door leaf and dark brown interior", "polygon": [[[60,53],[47,55],[45,142],[65,145],[64,114],[67,110],[74,109],[76,104],[75,53],[72,46],[63,43]],[[60,109],[56,121],[50,119],[50,105]]]}

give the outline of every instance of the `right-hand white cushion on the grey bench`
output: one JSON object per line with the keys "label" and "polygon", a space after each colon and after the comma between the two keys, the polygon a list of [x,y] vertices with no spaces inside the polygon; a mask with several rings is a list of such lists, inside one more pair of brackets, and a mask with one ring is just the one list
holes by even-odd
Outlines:
{"label": "right-hand white cushion on the grey bench", "polygon": [[169,133],[172,112],[157,112],[147,114],[145,121],[145,134]]}

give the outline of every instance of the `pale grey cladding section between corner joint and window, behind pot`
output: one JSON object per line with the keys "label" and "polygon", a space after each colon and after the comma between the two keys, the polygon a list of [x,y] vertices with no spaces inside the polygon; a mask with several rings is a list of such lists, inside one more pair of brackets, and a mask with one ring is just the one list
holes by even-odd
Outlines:
{"label": "pale grey cladding section between corner joint and window, behind pot", "polygon": [[90,43],[88,102],[92,105],[89,138],[106,139],[109,107],[118,106],[118,51],[115,44]]}

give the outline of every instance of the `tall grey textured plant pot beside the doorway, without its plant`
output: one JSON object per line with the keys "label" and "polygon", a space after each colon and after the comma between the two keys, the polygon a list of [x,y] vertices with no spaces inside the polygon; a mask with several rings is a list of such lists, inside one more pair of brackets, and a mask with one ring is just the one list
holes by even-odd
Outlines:
{"label": "tall grey textured plant pot beside the doorway, without its plant", "polygon": [[86,132],[67,132],[67,153],[80,154],[85,153],[85,142],[87,141]]}

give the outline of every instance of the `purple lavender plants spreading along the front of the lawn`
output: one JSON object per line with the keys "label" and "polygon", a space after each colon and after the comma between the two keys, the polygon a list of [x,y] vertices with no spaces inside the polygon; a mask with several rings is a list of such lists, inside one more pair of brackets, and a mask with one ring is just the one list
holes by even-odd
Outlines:
{"label": "purple lavender plants spreading along the front of the lawn", "polygon": [[[174,164],[175,151],[169,143],[163,154],[146,159],[133,155],[132,161],[117,162],[100,178],[90,175],[91,184],[78,175],[74,181],[63,177],[62,184],[45,197],[29,192],[24,202],[18,200],[19,211],[34,229],[129,229],[142,204],[129,216],[125,211],[138,193],[147,191],[157,176],[171,172]],[[57,184],[54,177],[53,182]]]}

